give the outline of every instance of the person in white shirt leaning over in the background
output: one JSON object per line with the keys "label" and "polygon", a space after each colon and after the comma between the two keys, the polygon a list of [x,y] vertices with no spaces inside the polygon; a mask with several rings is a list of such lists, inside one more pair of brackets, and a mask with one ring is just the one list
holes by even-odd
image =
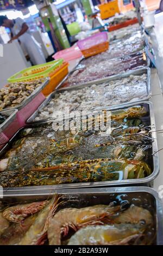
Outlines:
{"label": "person in white shirt leaning over in the background", "polygon": [[12,42],[18,39],[21,42],[22,48],[27,52],[33,65],[46,63],[45,56],[41,50],[40,44],[30,34],[29,27],[21,18],[9,20],[6,16],[0,16],[0,26],[9,28],[11,31]]}

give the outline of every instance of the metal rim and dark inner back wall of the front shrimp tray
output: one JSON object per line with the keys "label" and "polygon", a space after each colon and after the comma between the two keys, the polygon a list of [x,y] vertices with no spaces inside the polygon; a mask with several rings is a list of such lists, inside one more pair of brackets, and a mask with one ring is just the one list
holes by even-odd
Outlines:
{"label": "metal rim and dark inner back wall of the front shrimp tray", "polygon": [[[66,207],[86,207],[96,204],[109,204],[116,200],[116,197],[123,194],[127,197],[129,203],[133,203],[132,199],[139,196],[142,199],[140,204],[146,203],[146,206],[153,209],[153,216],[156,228],[156,245],[163,244],[163,217],[162,204],[158,193],[148,187],[112,187],[112,188],[84,188],[80,190],[37,190],[37,191],[8,191],[4,193],[3,200],[7,203],[19,202],[36,202],[51,198],[54,193],[62,194],[66,203]],[[136,205],[139,203],[136,203]],[[138,205],[139,206],[139,205]],[[60,206],[59,206],[60,207]],[[61,209],[61,208],[59,208]]]}

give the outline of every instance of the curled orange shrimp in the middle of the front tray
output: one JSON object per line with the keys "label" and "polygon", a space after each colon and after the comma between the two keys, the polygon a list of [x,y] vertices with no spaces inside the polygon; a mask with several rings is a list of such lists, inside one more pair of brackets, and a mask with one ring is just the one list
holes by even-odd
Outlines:
{"label": "curled orange shrimp in the middle of the front tray", "polygon": [[69,228],[77,231],[84,225],[104,224],[110,221],[110,217],[120,210],[120,206],[95,205],[82,209],[62,209],[49,222],[48,240],[49,245],[60,245],[61,234],[66,236]]}

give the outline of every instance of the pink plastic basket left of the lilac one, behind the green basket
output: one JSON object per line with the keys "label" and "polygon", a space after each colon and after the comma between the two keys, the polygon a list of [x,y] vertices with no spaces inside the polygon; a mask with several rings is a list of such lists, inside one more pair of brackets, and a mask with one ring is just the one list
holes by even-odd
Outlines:
{"label": "pink plastic basket left of the lilac one, behind the green basket", "polygon": [[55,53],[52,57],[54,59],[64,59],[66,62],[69,62],[70,60],[73,59],[78,59],[80,57],[82,57],[83,54],[80,51],[79,47],[77,45],[73,45],[72,47],[59,51],[57,53]]}

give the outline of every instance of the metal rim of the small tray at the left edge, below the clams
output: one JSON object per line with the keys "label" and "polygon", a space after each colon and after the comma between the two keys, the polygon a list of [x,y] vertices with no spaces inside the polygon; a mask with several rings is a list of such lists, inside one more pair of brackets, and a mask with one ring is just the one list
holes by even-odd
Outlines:
{"label": "metal rim of the small tray at the left edge, below the clams", "polygon": [[2,114],[2,115],[7,115],[7,116],[8,116],[8,118],[0,125],[0,132],[3,132],[4,129],[5,129],[10,123],[12,123],[12,121],[16,118],[16,113],[17,113],[17,111],[18,111],[18,110],[15,109],[15,108],[0,111],[0,114]]}

